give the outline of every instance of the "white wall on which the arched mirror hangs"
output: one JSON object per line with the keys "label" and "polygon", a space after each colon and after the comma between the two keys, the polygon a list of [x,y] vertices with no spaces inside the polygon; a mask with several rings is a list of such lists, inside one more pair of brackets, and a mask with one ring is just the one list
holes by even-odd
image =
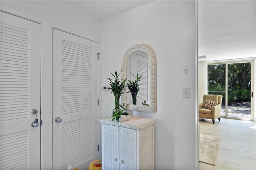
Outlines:
{"label": "white wall on which the arched mirror hangs", "polygon": [[[196,2],[153,1],[102,21],[102,85],[121,70],[126,49],[137,43],[156,53],[157,113],[132,115],[156,119],[155,169],[198,168]],[[188,73],[184,73],[184,65]],[[182,97],[190,87],[190,99]],[[110,117],[114,96],[102,92],[102,117]]]}

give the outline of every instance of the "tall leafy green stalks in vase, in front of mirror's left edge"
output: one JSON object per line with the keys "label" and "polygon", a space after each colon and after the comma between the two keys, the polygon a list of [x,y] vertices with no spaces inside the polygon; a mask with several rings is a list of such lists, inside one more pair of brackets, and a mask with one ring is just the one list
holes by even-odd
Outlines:
{"label": "tall leafy green stalks in vase, in front of mirror's left edge", "polygon": [[124,90],[124,87],[126,87],[125,85],[126,79],[122,80],[118,78],[120,73],[117,74],[117,72],[115,71],[115,75],[111,73],[114,76],[114,79],[108,78],[109,85],[110,85],[108,89],[111,89],[111,93],[113,93],[115,97],[115,109],[120,109],[119,107],[120,96],[123,93],[122,90]]}

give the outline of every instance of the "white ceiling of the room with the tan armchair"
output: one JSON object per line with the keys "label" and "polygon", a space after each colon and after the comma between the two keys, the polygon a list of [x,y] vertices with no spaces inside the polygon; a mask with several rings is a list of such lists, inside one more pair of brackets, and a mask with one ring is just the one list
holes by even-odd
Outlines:
{"label": "white ceiling of the room with the tan armchair", "polygon": [[198,56],[202,55],[208,61],[256,57],[255,0],[198,1]]}

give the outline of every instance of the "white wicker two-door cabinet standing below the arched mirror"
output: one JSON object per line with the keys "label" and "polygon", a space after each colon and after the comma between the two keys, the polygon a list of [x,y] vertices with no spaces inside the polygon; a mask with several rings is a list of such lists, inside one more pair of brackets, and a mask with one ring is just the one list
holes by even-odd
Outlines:
{"label": "white wicker two-door cabinet standing below the arched mirror", "polygon": [[153,170],[154,120],[130,117],[102,123],[102,170]]}

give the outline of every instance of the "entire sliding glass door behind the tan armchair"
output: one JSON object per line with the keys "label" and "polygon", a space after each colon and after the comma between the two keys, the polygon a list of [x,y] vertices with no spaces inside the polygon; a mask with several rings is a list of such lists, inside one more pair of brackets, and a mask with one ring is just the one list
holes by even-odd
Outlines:
{"label": "entire sliding glass door behind the tan armchair", "polygon": [[253,120],[253,61],[208,65],[208,94],[223,96],[221,116]]}

